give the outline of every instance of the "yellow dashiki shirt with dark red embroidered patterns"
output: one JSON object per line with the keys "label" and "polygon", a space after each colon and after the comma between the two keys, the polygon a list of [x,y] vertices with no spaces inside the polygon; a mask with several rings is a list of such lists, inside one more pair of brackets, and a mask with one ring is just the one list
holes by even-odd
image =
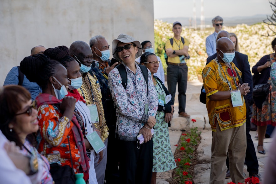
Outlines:
{"label": "yellow dashiki shirt with dark red embroidered patterns", "polygon": [[[236,90],[236,83],[239,84],[236,70],[241,76],[241,71],[237,69],[234,63],[231,63],[231,67],[235,76],[232,75],[231,69],[225,64],[221,64],[223,71],[221,70],[218,60],[212,60],[202,71],[203,85],[206,91],[206,108],[208,111],[209,121],[212,131],[216,131],[216,124],[219,123],[220,130],[226,130],[243,125],[246,121],[246,106],[244,97],[241,96],[242,106],[233,107],[231,98],[220,101],[211,101],[209,96],[215,94],[218,91],[229,91],[230,83],[232,90]],[[226,74],[226,75],[225,75]],[[227,77],[227,80],[226,80]]]}

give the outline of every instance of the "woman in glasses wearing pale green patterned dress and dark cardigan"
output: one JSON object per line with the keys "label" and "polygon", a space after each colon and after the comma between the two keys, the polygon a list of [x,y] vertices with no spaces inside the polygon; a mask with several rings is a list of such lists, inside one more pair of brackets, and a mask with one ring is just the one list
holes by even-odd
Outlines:
{"label": "woman in glasses wearing pale green patterned dress and dark cardigan", "polygon": [[[163,82],[153,76],[157,72],[159,62],[155,54],[145,52],[141,55],[141,64],[145,65],[151,71],[151,77],[158,96],[158,110],[156,114],[156,124],[154,126],[155,133],[153,135],[153,169],[151,184],[156,184],[157,172],[169,171],[176,167],[173,153],[170,145],[169,129],[170,121],[173,117],[174,107],[172,99],[165,102],[165,97],[169,96],[167,88]],[[167,99],[167,98],[166,98]]]}

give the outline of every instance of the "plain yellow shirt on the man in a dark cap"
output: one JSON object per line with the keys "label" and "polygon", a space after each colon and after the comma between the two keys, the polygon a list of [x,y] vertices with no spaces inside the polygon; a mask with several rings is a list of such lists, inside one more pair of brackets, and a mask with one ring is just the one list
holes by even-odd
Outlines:
{"label": "plain yellow shirt on the man in a dark cap", "polygon": [[[168,39],[166,42],[165,48],[166,49],[171,48],[173,50],[181,50],[181,49],[183,49],[184,45],[188,46],[189,44],[190,43],[189,43],[188,39],[186,39],[186,38],[184,38],[184,44],[182,43],[181,38],[178,40],[173,38],[173,46],[171,45],[170,39]],[[180,63],[180,60],[179,60],[178,56],[168,57],[168,62],[169,63]]]}

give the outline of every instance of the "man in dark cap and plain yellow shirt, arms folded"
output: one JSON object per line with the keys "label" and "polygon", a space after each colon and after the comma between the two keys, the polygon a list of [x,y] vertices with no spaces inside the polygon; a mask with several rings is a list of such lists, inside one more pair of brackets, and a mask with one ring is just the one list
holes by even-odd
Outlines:
{"label": "man in dark cap and plain yellow shirt, arms folded", "polygon": [[168,39],[166,42],[166,54],[168,56],[167,67],[167,83],[168,91],[172,95],[173,103],[176,91],[176,84],[178,84],[178,116],[189,118],[185,112],[186,107],[186,90],[188,82],[188,66],[185,57],[189,56],[189,41],[181,37],[182,25],[180,22],[173,23],[174,37]]}

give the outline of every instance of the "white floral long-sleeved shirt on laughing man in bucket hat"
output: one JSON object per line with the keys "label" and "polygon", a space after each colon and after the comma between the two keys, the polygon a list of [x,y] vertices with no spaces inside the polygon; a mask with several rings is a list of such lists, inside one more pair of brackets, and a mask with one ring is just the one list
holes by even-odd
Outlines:
{"label": "white floral long-sleeved shirt on laughing man in bucket hat", "polygon": [[[123,63],[125,66],[125,64]],[[127,86],[122,85],[122,78],[117,68],[108,76],[108,86],[117,106],[116,132],[121,140],[135,141],[139,130],[147,122],[149,116],[155,116],[158,98],[148,70],[148,89],[140,67],[135,63],[136,74],[127,66]],[[147,108],[148,106],[148,108]],[[146,107],[146,108],[145,108]],[[146,110],[145,110],[146,109]],[[148,112],[146,112],[148,109]]]}

